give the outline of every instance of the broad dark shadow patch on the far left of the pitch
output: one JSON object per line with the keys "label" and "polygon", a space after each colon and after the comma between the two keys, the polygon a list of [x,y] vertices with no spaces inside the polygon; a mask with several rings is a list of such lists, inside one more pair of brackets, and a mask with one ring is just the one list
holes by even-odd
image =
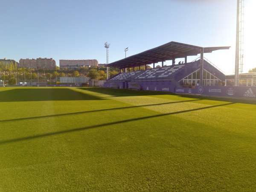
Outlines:
{"label": "broad dark shadow patch on the far left of the pitch", "polygon": [[69,88],[15,88],[0,91],[0,102],[102,100]]}

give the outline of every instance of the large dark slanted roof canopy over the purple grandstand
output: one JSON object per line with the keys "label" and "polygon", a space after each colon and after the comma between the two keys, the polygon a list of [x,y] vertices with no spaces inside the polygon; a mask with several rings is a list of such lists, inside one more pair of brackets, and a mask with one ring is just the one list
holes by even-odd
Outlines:
{"label": "large dark slanted roof canopy over the purple grandstand", "polygon": [[119,61],[112,62],[106,66],[123,69],[173,60],[175,58],[186,58],[187,56],[195,56],[200,54],[203,48],[204,53],[209,53],[219,49],[229,49],[230,47],[198,47],[171,41],[159,47],[155,47]]}

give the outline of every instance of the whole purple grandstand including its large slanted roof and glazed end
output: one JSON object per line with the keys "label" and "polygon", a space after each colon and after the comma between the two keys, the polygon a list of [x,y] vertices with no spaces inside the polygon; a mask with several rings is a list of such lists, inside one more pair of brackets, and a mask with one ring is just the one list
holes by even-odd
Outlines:
{"label": "whole purple grandstand including its large slanted roof and glazed end", "polygon": [[[108,67],[128,68],[127,73],[119,73],[105,82],[105,87],[129,88],[129,83],[137,83],[140,90],[161,90],[175,92],[175,88],[192,87],[196,85],[222,85],[225,75],[221,70],[204,58],[204,53],[229,47],[197,47],[188,44],[170,42],[160,47],[133,55],[120,61],[108,64]],[[198,59],[187,62],[187,56],[201,54]],[[184,64],[175,64],[176,58],[185,58]],[[163,66],[163,62],[172,60],[171,66]],[[155,68],[155,63],[162,61],[162,67]],[[153,64],[152,69],[146,69],[147,64]],[[146,70],[135,67],[143,65]],[[133,68],[132,71],[130,69]],[[125,71],[125,70],[123,70]],[[161,82],[161,83],[160,83]]]}

